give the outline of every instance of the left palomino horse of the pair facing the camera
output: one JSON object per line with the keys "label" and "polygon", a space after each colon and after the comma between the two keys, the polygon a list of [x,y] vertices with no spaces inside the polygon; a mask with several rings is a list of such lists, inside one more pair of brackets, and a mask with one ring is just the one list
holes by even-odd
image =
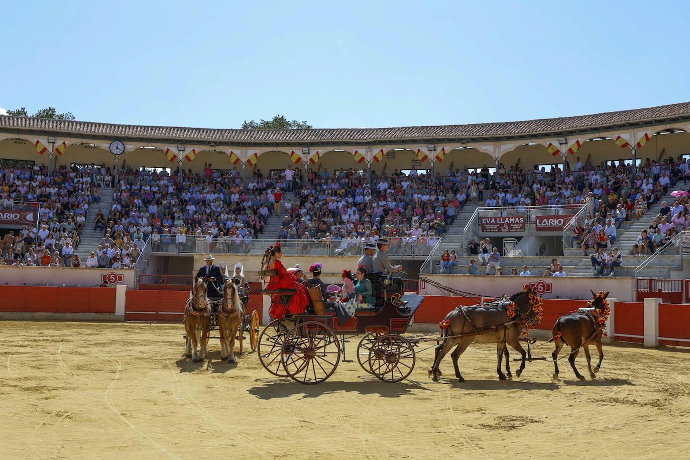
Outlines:
{"label": "left palomino horse of the pair facing the camera", "polygon": [[[206,297],[206,277],[195,278],[192,299],[184,310],[184,329],[187,332],[187,345],[184,354],[195,363],[206,359],[208,332],[210,330],[210,308]],[[199,352],[197,353],[197,343]],[[194,350],[192,351],[192,347]]]}

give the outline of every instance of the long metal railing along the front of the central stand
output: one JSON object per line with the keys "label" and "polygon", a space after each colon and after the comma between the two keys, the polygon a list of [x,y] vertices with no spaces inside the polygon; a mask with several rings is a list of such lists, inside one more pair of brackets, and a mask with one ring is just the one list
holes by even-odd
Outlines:
{"label": "long metal railing along the front of the central stand", "polygon": [[[361,256],[364,254],[359,240],[320,240],[320,239],[286,239],[279,240],[284,255],[326,255],[326,256]],[[440,237],[424,238],[388,238],[388,256],[390,257],[426,257],[436,248]],[[207,239],[206,237],[186,237],[184,243],[176,243],[174,237],[159,235],[150,238],[152,252],[176,254],[263,254],[266,248],[275,245],[275,239],[251,239],[234,241],[233,239]]]}

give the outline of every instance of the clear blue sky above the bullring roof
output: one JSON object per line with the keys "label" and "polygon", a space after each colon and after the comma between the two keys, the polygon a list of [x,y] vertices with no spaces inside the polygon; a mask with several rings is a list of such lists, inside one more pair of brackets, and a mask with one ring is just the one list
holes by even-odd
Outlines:
{"label": "clear blue sky above the bullring roof", "polygon": [[690,2],[563,3],[4,2],[0,107],[375,128],[690,100]]}

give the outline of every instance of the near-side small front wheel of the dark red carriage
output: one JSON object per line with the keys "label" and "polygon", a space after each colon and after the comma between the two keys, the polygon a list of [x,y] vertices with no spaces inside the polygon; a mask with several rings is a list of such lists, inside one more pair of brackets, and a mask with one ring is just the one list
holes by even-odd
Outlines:
{"label": "near-side small front wheel of the dark red carriage", "polygon": [[386,334],[369,350],[371,373],[383,381],[399,382],[415,367],[415,348],[400,335]]}

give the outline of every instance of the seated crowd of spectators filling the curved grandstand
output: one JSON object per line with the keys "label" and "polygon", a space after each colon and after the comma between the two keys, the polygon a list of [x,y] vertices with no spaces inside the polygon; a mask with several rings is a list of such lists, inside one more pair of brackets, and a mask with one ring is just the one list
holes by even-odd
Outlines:
{"label": "seated crowd of spectators filling the curved grandstand", "polygon": [[[486,165],[475,170],[449,168],[444,176],[437,172],[433,177],[415,170],[372,171],[366,177],[353,168],[337,173],[311,168],[304,181],[302,170],[291,166],[267,177],[257,169],[247,179],[237,168],[220,171],[211,164],[204,166],[202,174],[176,170],[169,175],[123,166],[118,181],[112,181],[112,172],[104,165],[62,166],[53,172],[45,165],[5,168],[0,178],[3,207],[37,206],[39,228],[13,235],[11,251],[3,243],[4,263],[128,267],[149,236],[155,244],[179,247],[190,236],[214,244],[250,246],[262,236],[270,214],[284,219],[277,234],[265,235],[269,239],[424,241],[442,236],[468,203],[517,208],[584,203],[588,215],[574,229],[571,244],[586,253],[589,248],[608,248],[623,221],[641,219],[651,203],[678,181],[686,183],[689,175],[687,161],[680,156],[661,163],[647,159],[635,179],[631,165],[624,161],[594,166],[580,158],[573,169],[566,165],[565,178],[558,165],[546,171],[544,166],[506,170],[500,164],[496,174]],[[70,257],[70,248],[79,246],[89,206],[99,201],[97,184],[113,182],[112,208],[99,211],[95,218],[95,228],[108,234],[101,248],[88,261]],[[664,236],[673,237],[687,228],[688,208],[690,201],[679,199],[668,215],[659,217],[671,219],[664,224],[670,232],[662,232]],[[654,244],[666,241],[655,242],[654,235],[649,239],[651,244],[645,244],[646,249],[638,246],[638,252],[653,252]],[[486,260],[479,257],[481,252],[470,249],[470,254],[497,268],[490,254]],[[444,272],[452,273],[457,266],[457,261],[442,262]]]}

